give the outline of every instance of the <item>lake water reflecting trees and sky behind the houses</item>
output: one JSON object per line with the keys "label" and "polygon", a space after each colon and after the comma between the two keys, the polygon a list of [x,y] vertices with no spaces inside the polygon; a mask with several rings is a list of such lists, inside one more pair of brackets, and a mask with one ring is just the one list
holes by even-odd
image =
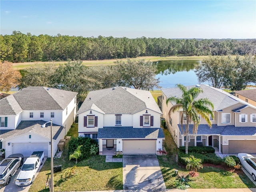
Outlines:
{"label": "lake water reflecting trees and sky behind the houses", "polygon": [[[194,68],[200,62],[199,60],[164,60],[153,62],[158,69],[156,77],[160,78],[159,86],[162,88],[172,88],[176,84],[183,84],[185,86],[199,84]],[[208,84],[208,82],[203,84]]]}

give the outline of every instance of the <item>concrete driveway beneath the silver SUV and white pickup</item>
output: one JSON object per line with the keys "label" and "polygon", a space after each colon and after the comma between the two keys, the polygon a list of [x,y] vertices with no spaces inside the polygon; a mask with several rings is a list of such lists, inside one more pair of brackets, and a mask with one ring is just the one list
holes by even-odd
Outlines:
{"label": "concrete driveway beneath the silver SUV and white pickup", "polygon": [[[26,157],[24,157],[24,162],[26,161]],[[44,157],[44,162],[46,161],[47,157]],[[39,171],[41,170],[41,168],[43,167],[44,163],[42,165],[39,166],[36,174],[35,174],[35,179],[36,176],[38,175]],[[15,174],[12,176],[11,181],[8,185],[2,186],[2,188],[0,188],[0,192],[28,192],[30,185],[27,186],[17,186],[15,184],[15,180],[16,177],[18,176],[19,172],[20,172],[20,168],[18,168],[18,170],[15,172]]]}

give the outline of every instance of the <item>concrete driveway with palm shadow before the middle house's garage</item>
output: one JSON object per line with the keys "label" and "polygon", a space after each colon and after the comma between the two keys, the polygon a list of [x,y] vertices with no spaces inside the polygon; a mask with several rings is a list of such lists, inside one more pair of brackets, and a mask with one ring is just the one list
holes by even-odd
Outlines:
{"label": "concrete driveway with palm shadow before the middle house's garage", "polygon": [[123,155],[124,190],[165,190],[156,155]]}

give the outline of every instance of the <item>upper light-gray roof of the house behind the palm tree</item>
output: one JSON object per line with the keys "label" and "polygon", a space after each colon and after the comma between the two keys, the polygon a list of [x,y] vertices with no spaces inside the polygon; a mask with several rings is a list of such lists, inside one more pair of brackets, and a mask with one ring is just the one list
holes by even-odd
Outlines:
{"label": "upper light-gray roof of the house behind the palm tree", "polygon": [[[187,88],[192,88],[192,87],[195,87],[195,86],[187,86]],[[245,103],[244,101],[240,100],[239,98],[235,97],[232,94],[225,92],[224,90],[220,90],[218,88],[214,88],[204,84],[201,84],[200,88],[202,88],[203,93],[200,93],[197,99],[208,98],[214,104],[214,111],[221,111],[235,104],[241,104],[241,106],[247,104],[250,107],[255,108],[254,106],[248,103]],[[167,98],[171,96],[177,96],[177,97],[182,96],[182,91],[177,87],[166,88],[161,90]]]}

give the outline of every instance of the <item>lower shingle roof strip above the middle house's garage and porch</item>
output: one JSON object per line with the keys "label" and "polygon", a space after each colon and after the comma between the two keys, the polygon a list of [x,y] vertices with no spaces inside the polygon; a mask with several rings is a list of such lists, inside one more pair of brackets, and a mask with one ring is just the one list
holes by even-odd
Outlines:
{"label": "lower shingle roof strip above the middle house's garage and porch", "polygon": [[162,128],[103,127],[98,130],[98,139],[108,138],[164,138]]}

